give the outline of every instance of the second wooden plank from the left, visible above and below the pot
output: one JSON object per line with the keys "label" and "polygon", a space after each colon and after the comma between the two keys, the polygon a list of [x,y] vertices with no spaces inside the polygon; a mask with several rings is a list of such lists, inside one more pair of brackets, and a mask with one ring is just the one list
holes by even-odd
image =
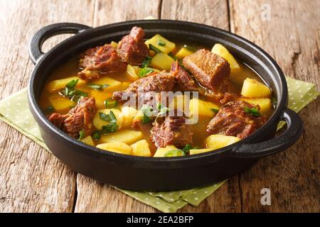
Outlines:
{"label": "second wooden plank from the left, visible above and below the pot", "polygon": [[[123,9],[126,9],[125,11]],[[99,1],[95,2],[94,26],[119,21],[159,18],[160,1]],[[156,209],[83,175],[77,177],[75,212],[156,212]]]}

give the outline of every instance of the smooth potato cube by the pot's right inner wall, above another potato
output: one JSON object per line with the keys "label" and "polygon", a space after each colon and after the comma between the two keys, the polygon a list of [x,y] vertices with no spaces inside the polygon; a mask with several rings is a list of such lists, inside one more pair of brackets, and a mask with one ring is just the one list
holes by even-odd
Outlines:
{"label": "smooth potato cube by the pot's right inner wall, above another potato", "polygon": [[271,96],[271,90],[256,79],[247,78],[243,82],[241,94],[247,98],[268,98]]}

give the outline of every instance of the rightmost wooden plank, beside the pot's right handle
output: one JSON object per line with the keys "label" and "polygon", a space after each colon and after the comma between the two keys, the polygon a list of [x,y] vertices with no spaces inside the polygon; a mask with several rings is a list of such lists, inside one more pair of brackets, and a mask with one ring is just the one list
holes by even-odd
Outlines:
{"label": "rightmost wooden plank, beside the pot's right handle", "polygon": [[[267,50],[296,79],[319,89],[320,1],[230,1],[231,31]],[[270,9],[270,21],[265,10]],[[261,16],[262,15],[262,16]],[[320,99],[300,114],[302,138],[284,153],[263,158],[240,177],[245,212],[319,212]],[[260,204],[260,190],[271,190],[271,206]]]}

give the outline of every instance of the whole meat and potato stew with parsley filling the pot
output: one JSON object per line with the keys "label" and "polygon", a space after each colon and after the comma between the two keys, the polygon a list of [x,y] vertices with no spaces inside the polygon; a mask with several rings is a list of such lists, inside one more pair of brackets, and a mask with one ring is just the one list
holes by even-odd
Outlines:
{"label": "whole meat and potato stew with parsley filling the pot", "polygon": [[55,70],[40,106],[51,123],[88,145],[173,157],[246,138],[270,118],[273,100],[223,45],[146,39],[134,27],[119,43],[90,48]]}

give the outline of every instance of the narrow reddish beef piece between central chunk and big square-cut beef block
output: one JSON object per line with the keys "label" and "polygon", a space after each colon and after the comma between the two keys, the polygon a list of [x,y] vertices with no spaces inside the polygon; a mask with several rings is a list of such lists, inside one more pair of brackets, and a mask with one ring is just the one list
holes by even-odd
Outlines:
{"label": "narrow reddish beef piece between central chunk and big square-cut beef block", "polygon": [[191,77],[186,70],[178,64],[178,61],[172,63],[171,65],[171,73],[176,77],[176,83],[178,85],[179,91],[197,91],[198,86],[196,82],[194,82],[193,78]]}

